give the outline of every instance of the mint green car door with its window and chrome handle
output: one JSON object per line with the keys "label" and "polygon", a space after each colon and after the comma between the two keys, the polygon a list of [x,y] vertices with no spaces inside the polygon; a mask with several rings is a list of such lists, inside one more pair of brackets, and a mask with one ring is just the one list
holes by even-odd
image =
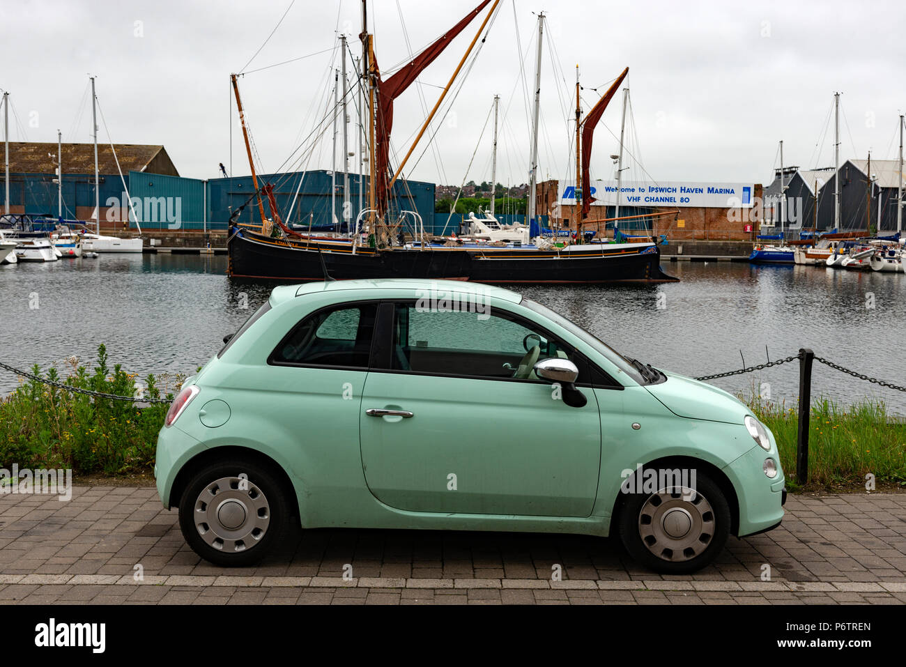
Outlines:
{"label": "mint green car door with its window and chrome handle", "polygon": [[[587,517],[601,460],[593,391],[573,408],[535,378],[572,351],[532,322],[381,304],[377,360],[361,402],[371,493],[419,512]],[[382,366],[382,367],[381,367]],[[517,375],[518,377],[513,377]]]}

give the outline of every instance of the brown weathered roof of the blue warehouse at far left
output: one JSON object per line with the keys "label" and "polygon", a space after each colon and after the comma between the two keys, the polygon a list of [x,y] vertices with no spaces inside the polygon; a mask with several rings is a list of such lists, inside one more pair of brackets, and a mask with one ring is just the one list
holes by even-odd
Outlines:
{"label": "brown weathered roof of the blue warehouse at far left", "polygon": [[[179,175],[163,146],[128,143],[118,143],[114,146],[116,157],[120,160],[120,169],[117,169],[111,145],[109,143],[98,144],[98,171],[101,174],[115,174],[120,170],[124,174],[130,171],[148,170],[156,174]],[[10,141],[9,170],[15,173],[53,173],[56,168],[56,153],[56,142]],[[54,157],[52,158],[51,155]],[[94,144],[63,144],[63,174],[67,173],[94,173]]]}

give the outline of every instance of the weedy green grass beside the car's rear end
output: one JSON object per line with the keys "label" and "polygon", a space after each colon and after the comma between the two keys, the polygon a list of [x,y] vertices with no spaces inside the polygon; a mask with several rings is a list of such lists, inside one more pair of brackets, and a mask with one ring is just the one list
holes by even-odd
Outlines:
{"label": "weedy green grass beside the car's rear end", "polygon": [[[136,376],[124,372],[120,364],[111,369],[104,345],[98,347],[91,372],[77,360],[70,361],[64,380],[55,367],[42,375],[34,366],[32,372],[81,389],[120,396],[134,396],[136,391]],[[178,389],[182,379],[172,380],[172,389]],[[172,399],[171,393],[161,391],[160,382],[153,375],[145,378],[145,396]],[[81,474],[147,472],[154,467],[157,432],[167,410],[166,403],[139,409],[130,401],[21,381],[10,396],[0,399],[0,468],[9,470],[16,463],[20,469],[63,468]]]}

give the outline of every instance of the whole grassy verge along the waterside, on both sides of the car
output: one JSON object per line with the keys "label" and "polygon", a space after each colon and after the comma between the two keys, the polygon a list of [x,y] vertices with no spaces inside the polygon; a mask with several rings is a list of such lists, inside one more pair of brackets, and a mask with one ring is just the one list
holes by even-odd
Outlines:
{"label": "whole grassy verge along the waterside, on both sides of the car", "polygon": [[[40,374],[35,367],[34,374]],[[60,381],[57,369],[43,374]],[[146,396],[172,399],[183,378],[144,378]],[[120,364],[111,369],[104,345],[92,370],[71,361],[66,384],[131,396],[136,376]],[[774,432],[787,485],[797,488],[795,408],[747,401]],[[166,403],[139,409],[128,401],[94,399],[79,393],[24,381],[0,399],[0,468],[71,468],[79,474],[149,473],[154,467],[157,434]],[[882,402],[864,399],[843,407],[827,399],[813,402],[809,430],[809,487],[863,486],[874,475],[879,485],[906,486],[906,422],[890,415]]]}

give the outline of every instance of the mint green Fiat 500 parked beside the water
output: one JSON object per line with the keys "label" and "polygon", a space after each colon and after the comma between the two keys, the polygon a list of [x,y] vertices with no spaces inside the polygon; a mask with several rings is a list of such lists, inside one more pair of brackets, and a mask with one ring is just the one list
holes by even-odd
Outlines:
{"label": "mint green Fiat 500 parked beside the water", "polygon": [[225,343],[155,466],[217,565],[254,563],[295,520],[615,535],[688,573],[784,515],[776,442],[746,405],[505,289],[280,286]]}

